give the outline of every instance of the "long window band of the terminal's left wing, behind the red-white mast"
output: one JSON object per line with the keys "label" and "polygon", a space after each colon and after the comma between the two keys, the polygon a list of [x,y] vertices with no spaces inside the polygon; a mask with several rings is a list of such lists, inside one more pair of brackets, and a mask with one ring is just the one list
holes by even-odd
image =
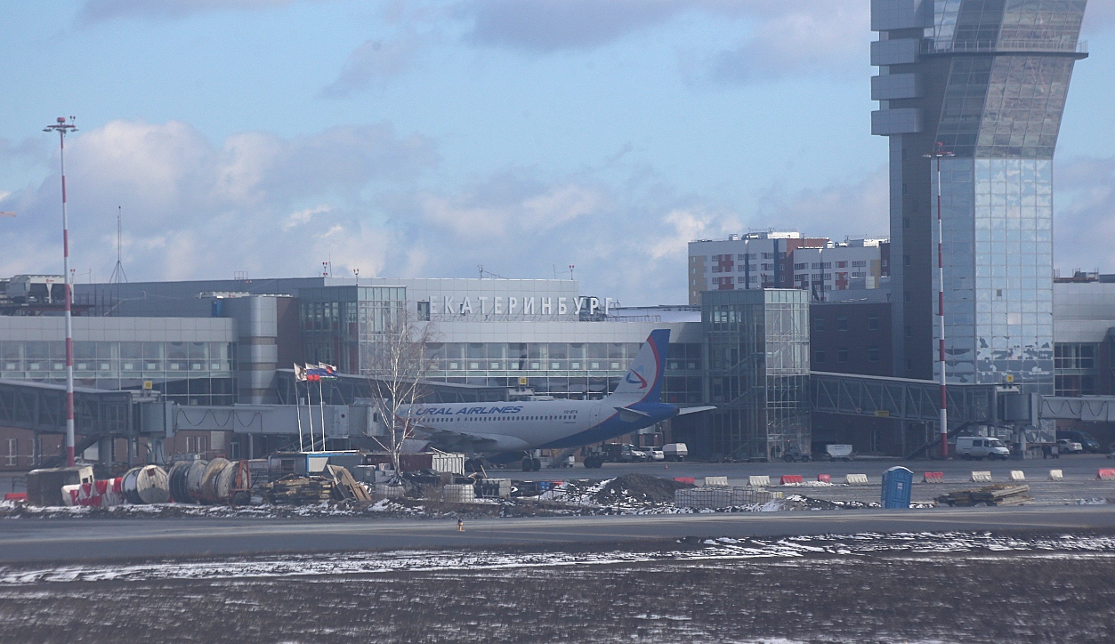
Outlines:
{"label": "long window band of the terminal's left wing, behind the red-white mast", "polygon": [[[142,389],[145,380],[180,404],[236,400],[235,345],[229,342],[74,341],[74,383],[96,389]],[[62,341],[0,342],[0,378],[66,382]]]}

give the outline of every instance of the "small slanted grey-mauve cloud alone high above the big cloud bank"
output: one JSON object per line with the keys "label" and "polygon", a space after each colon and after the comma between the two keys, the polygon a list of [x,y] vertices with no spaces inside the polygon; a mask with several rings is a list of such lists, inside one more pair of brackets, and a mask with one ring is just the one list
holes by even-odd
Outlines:
{"label": "small slanted grey-mauve cloud alone high above the big cloud bank", "polygon": [[327,98],[346,98],[413,69],[433,37],[407,31],[394,40],[366,40],[345,61],[337,79],[321,90]]}

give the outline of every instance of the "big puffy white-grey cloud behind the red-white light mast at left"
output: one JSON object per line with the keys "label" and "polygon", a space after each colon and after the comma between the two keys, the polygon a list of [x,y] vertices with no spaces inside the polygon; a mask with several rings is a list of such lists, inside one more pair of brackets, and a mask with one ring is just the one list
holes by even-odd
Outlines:
{"label": "big puffy white-grey cloud behind the red-white light mast at left", "polygon": [[[74,265],[100,279],[115,263],[117,205],[133,280],[304,275],[330,255],[375,274],[391,232],[363,192],[409,185],[437,163],[433,142],[387,124],[213,145],[183,123],[117,120],[67,144]],[[58,183],[54,173],[0,199],[20,212],[20,243],[0,254],[0,274],[59,270]]]}

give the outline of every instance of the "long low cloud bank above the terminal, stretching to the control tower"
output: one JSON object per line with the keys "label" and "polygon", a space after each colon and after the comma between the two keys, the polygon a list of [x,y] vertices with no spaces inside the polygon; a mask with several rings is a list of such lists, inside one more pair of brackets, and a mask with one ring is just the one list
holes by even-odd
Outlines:
{"label": "long low cloud bank above the terminal, stretching to the control tower", "polygon": [[[679,195],[642,166],[627,180],[513,167],[448,185],[433,142],[386,124],[213,143],[178,121],[118,120],[67,144],[74,266],[100,280],[116,261],[117,205],[133,281],[313,275],[327,258],[338,275],[400,277],[472,276],[477,264],[552,277],[572,264],[583,292],[627,304],[683,302],[694,238],[748,225],[836,238],[886,230],[885,168],[847,185],[770,189],[745,216]],[[55,173],[0,198],[20,213],[0,224],[18,241],[0,253],[0,275],[59,270],[58,183]]]}

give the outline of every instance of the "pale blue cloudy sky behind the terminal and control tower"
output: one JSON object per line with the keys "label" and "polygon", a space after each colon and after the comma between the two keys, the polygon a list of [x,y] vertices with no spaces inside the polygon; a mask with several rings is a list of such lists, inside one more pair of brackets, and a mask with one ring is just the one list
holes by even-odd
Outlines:
{"label": "pale blue cloudy sky behind the terminal and control tower", "polygon": [[[685,244],[886,233],[866,0],[2,1],[0,274],[568,275],[685,300]],[[1115,1],[1058,149],[1057,261],[1115,272]]]}

